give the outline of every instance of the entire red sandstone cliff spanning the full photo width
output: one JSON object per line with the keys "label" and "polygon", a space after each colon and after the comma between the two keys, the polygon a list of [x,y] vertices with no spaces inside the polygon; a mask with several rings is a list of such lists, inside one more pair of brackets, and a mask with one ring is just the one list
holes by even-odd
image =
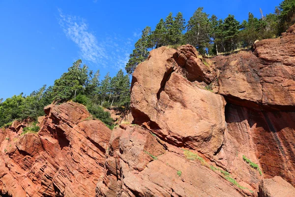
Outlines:
{"label": "entire red sandstone cliff spanning the full photo width", "polygon": [[133,124],[113,131],[73,102],[47,106],[37,134],[0,130],[0,194],[295,196],[295,26],[211,59],[152,50],[130,108]]}

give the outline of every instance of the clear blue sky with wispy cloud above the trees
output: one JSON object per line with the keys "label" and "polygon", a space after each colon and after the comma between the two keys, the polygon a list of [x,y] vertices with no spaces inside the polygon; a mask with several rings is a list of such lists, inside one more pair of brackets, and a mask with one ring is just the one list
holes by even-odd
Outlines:
{"label": "clear blue sky with wispy cloud above the trees", "polygon": [[0,98],[53,85],[77,59],[101,77],[124,68],[141,31],[169,12],[247,19],[281,0],[0,0]]}

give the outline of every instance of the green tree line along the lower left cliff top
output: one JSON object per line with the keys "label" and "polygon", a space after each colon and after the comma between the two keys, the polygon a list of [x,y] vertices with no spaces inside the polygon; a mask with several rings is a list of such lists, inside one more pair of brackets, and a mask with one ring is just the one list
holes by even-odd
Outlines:
{"label": "green tree line along the lower left cliff top", "polygon": [[46,105],[73,100],[87,106],[94,118],[100,119],[107,126],[113,126],[113,119],[103,107],[128,107],[130,102],[130,80],[119,70],[116,76],[109,73],[99,79],[99,70],[95,73],[83,65],[81,60],[73,63],[68,71],[55,80],[53,86],[44,85],[29,96],[23,93],[11,98],[0,99],[0,127],[9,125],[13,120],[30,118],[37,120],[44,115]]}

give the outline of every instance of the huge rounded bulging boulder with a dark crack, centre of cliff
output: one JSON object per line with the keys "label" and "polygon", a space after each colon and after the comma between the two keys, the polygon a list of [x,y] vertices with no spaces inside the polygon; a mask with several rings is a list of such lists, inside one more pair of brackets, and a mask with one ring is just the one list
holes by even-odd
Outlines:
{"label": "huge rounded bulging boulder with a dark crack, centre of cliff", "polygon": [[[184,52],[183,47],[180,51],[160,47],[151,51],[148,60],[136,68],[130,105],[134,123],[153,130],[176,146],[213,156],[223,143],[226,102],[222,96],[187,79],[183,64],[177,63]],[[195,56],[190,55],[191,62],[197,59]]]}

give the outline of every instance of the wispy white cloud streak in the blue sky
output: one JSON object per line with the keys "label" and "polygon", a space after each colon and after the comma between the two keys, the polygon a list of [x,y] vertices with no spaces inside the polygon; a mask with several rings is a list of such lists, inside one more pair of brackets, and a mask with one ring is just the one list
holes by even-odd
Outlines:
{"label": "wispy white cloud streak in the blue sky", "polygon": [[65,15],[61,9],[59,9],[59,25],[65,35],[79,47],[83,60],[116,69],[123,69],[128,62],[133,49],[133,39],[126,39],[115,33],[106,33],[98,40],[89,30],[89,24],[85,19]]}

